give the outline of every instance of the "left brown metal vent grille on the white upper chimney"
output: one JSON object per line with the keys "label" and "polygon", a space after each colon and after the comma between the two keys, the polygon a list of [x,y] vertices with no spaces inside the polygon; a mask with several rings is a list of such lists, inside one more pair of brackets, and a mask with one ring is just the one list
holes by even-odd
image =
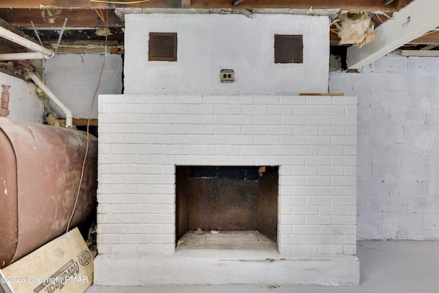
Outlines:
{"label": "left brown metal vent grille on the white upper chimney", "polygon": [[176,61],[177,60],[177,33],[150,32],[150,46],[148,60]]}

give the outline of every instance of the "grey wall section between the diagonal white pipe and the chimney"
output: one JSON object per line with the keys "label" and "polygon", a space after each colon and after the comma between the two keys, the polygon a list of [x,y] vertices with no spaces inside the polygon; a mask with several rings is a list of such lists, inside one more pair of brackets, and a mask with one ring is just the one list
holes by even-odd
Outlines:
{"label": "grey wall section between the diagonal white pipe and the chimney", "polygon": [[[106,58],[106,60],[105,60]],[[123,60],[119,54],[58,54],[45,61],[45,83],[69,108],[74,118],[88,118],[91,102],[105,60],[97,94],[120,94],[123,90]],[[62,111],[52,102],[50,107],[60,117]],[[97,118],[97,97],[92,118]]]}

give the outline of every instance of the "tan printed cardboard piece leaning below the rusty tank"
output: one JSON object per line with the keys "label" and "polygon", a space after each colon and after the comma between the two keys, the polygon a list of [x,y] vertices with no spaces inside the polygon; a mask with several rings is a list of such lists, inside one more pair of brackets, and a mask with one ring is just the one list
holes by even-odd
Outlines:
{"label": "tan printed cardboard piece leaning below the rusty tank", "polygon": [[93,283],[93,256],[74,228],[3,269],[16,293],[85,292]]}

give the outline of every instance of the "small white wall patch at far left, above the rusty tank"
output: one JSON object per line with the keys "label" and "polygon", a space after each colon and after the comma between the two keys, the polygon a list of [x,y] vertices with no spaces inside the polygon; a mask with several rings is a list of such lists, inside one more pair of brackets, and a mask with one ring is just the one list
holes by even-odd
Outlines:
{"label": "small white wall patch at far left, above the rusty tank", "polygon": [[11,86],[8,116],[10,119],[43,124],[44,100],[36,95],[33,83],[0,72],[0,84]]}

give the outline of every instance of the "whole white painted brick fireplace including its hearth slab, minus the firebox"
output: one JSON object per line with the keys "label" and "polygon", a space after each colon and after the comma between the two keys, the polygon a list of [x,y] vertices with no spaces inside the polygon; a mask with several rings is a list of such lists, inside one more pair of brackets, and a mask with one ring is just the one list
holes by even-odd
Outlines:
{"label": "whole white painted brick fireplace including its hearth slab, minus the firebox", "polygon": [[[99,95],[95,283],[359,283],[356,142],[356,97]],[[278,166],[278,251],[176,252],[179,165]]]}

